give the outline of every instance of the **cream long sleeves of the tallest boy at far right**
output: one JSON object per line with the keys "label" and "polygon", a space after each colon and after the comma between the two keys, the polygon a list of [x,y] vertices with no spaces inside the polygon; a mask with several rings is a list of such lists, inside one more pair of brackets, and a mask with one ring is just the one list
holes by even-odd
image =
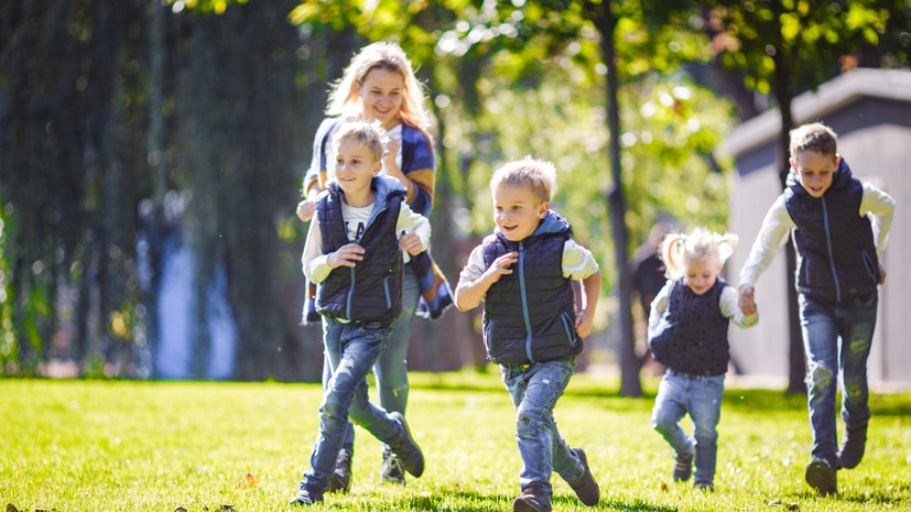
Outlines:
{"label": "cream long sleeves of the tallest boy at far right", "polygon": [[[860,199],[858,215],[864,217],[869,214],[877,255],[881,255],[882,250],[886,249],[894,209],[896,200],[889,194],[869,183],[864,183],[864,196]],[[759,235],[757,235],[750,249],[750,255],[740,270],[741,285],[756,285],[759,275],[769,268],[772,259],[781,252],[781,248],[788,242],[791,230],[796,227],[788,213],[788,207],[784,205],[784,194],[779,195],[769,211],[766,213],[762,227],[759,228]]]}

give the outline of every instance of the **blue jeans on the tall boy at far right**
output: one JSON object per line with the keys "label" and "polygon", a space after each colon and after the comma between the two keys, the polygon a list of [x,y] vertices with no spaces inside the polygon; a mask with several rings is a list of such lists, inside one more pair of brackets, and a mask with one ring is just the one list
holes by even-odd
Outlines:
{"label": "blue jeans on the tall boy at far right", "polygon": [[877,292],[834,305],[800,296],[812,456],[829,465],[837,459],[835,392],[838,379],[845,428],[866,429],[870,420],[867,358],[876,327],[877,303]]}

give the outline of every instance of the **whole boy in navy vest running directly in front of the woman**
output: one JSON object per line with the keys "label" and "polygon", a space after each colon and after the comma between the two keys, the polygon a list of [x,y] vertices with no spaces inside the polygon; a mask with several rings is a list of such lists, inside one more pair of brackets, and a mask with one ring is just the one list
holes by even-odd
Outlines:
{"label": "whole boy in navy vest running directly in front of the woman", "polygon": [[[367,401],[367,374],[386,349],[402,312],[402,251],[426,249],[427,219],[409,208],[402,184],[380,176],[383,130],[347,122],[336,138],[335,178],[316,200],[304,274],[318,283],[323,344],[332,378],[319,405],[319,432],[292,505],[323,500],[346,435],[348,417],[366,428],[420,477],[424,456],[401,413]],[[400,236],[400,233],[402,233]]]}

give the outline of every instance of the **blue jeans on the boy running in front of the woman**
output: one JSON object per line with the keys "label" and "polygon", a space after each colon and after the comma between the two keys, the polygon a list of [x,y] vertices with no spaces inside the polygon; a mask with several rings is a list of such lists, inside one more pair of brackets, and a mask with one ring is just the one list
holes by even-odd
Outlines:
{"label": "blue jeans on the boy running in front of the woman", "polygon": [[394,444],[401,426],[368,401],[367,374],[386,349],[392,325],[387,323],[344,324],[323,317],[323,344],[332,366],[319,404],[319,432],[304,472],[301,490],[322,495],[335,470],[335,459],[346,435],[348,417],[377,439]]}

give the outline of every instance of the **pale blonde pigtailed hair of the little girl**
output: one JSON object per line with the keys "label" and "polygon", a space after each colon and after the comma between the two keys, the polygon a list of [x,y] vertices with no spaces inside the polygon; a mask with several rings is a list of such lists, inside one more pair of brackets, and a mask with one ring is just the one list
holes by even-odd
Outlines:
{"label": "pale blonde pigtailed hair of the little girl", "polygon": [[739,238],[734,233],[718,235],[697,228],[691,235],[671,233],[661,242],[661,259],[668,269],[664,275],[677,279],[686,274],[690,262],[716,260],[718,264],[734,253]]}

